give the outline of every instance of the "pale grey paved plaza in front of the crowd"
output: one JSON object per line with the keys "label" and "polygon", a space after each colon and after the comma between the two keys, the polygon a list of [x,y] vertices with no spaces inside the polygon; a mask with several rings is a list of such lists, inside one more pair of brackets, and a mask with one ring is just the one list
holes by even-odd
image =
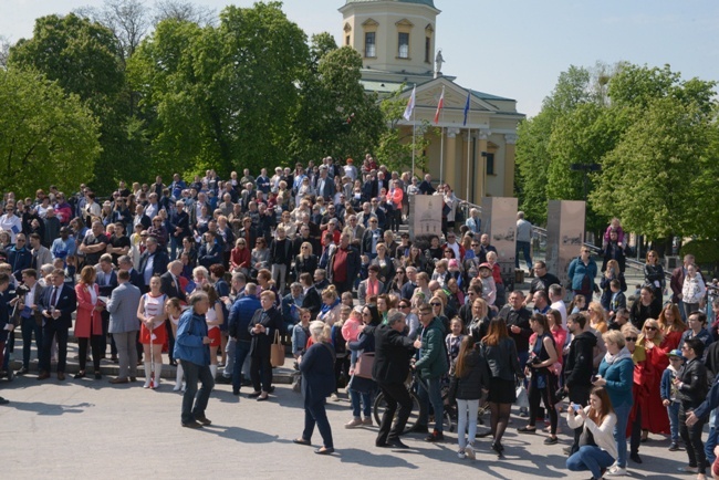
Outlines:
{"label": "pale grey paved plaza in front of the crowd", "polygon": [[[476,461],[457,458],[456,435],[442,444],[426,444],[421,436],[404,439],[410,450],[374,446],[376,427],[347,430],[348,400],[327,406],[336,452],[331,457],[292,444],[303,427],[302,398],[289,385],[278,385],[271,401],[258,403],[231,394],[218,385],[207,416],[210,427],[180,427],[181,394],[164,382],[158,390],[142,383],[111,386],[84,378],[40,383],[34,375],[3,382],[0,394],[10,399],[0,407],[0,450],[3,479],[196,479],[268,478],[316,479],[371,478],[472,478],[585,479],[564,467],[562,447],[569,445],[569,429],[562,419],[560,444],[544,446],[543,434],[515,432],[524,420],[512,416],[504,437],[506,459],[497,460],[488,439],[478,439]],[[515,413],[515,410],[514,410]],[[487,418],[488,420],[488,418]],[[541,427],[542,425],[539,424]],[[480,426],[480,431],[484,427]],[[321,444],[319,432],[313,445]],[[653,436],[642,445],[642,469],[629,462],[632,478],[680,479],[686,463],[684,451],[667,450],[668,440]]]}

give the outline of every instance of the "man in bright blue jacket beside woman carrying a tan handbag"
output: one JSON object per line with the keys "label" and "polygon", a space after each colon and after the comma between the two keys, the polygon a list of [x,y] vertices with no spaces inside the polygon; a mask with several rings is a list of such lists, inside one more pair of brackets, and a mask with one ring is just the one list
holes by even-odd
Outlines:
{"label": "man in bright blue jacket beside woman carrying a tan handbag", "polygon": [[252,315],[262,307],[257,298],[257,285],[248,283],[244,285],[244,294],[239,296],[228,315],[228,330],[230,337],[235,338],[235,365],[232,367],[232,393],[240,395],[242,364],[250,353],[252,336],[248,330]]}

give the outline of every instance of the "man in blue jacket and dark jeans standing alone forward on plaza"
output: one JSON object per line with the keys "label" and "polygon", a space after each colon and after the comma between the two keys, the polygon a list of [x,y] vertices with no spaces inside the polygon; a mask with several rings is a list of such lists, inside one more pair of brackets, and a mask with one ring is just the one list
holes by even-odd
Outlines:
{"label": "man in blue jacket and dark jeans standing alone forward on plaza", "polygon": [[[210,392],[215,387],[215,379],[210,372],[211,341],[207,336],[205,320],[205,314],[210,307],[210,299],[205,292],[195,293],[190,298],[190,306],[179,319],[175,341],[175,358],[180,361],[187,382],[180,421],[186,428],[202,428],[211,424],[205,416],[205,409],[210,399]],[[198,380],[202,383],[199,394]]]}

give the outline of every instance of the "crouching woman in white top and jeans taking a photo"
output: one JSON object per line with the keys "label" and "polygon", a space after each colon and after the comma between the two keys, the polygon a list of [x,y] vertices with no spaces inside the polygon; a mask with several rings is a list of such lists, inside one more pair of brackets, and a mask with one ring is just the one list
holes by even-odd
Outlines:
{"label": "crouching woman in white top and jeans taking a photo", "polygon": [[616,415],[609,394],[604,387],[595,387],[590,394],[590,405],[570,405],[566,422],[570,428],[584,426],[580,449],[566,459],[566,468],[571,471],[590,470],[593,479],[601,479],[617,457],[614,441]]}

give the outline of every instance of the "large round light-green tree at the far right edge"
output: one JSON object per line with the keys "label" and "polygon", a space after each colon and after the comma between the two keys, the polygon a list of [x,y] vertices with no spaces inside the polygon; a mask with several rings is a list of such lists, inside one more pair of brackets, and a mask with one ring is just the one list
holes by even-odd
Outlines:
{"label": "large round light-green tree at the far right edge", "polygon": [[706,185],[702,164],[712,128],[697,104],[652,101],[605,156],[592,194],[595,208],[607,217],[621,215],[625,229],[650,239],[707,231],[713,201],[698,188]]}

